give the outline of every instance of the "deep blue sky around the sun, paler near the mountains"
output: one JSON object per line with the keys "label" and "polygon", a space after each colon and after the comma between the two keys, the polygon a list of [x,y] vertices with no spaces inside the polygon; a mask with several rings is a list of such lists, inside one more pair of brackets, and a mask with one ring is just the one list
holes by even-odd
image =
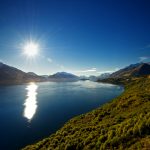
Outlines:
{"label": "deep blue sky around the sun, paler near the mountains", "polygon": [[149,58],[149,0],[0,0],[0,60],[23,71],[99,75]]}

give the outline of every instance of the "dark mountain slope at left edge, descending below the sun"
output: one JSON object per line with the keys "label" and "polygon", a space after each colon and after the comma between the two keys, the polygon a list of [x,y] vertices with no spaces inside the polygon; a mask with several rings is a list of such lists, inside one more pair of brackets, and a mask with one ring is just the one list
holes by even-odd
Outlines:
{"label": "dark mountain slope at left edge, descending below the sun", "polygon": [[0,63],[0,84],[19,84],[43,80],[43,77],[34,73],[25,73],[17,68]]}

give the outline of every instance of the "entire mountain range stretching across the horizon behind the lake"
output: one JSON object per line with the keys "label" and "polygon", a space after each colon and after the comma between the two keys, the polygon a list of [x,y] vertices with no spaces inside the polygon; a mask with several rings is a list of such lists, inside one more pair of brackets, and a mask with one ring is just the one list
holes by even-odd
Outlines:
{"label": "entire mountain range stretching across the horizon behind the lake", "polygon": [[17,68],[0,63],[0,84],[20,84],[26,82],[43,82],[43,81],[78,81],[91,80],[98,81],[107,78],[130,78],[150,75],[150,63],[137,63],[129,65],[112,74],[104,73],[99,76],[76,76],[67,72],[57,72],[53,75],[39,76],[34,72],[23,72]]}

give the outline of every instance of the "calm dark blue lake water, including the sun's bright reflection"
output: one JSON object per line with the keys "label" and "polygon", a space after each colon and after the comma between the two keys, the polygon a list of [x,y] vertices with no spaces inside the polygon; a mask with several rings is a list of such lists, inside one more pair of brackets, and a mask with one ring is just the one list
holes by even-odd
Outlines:
{"label": "calm dark blue lake water, including the sun's bright reflection", "polygon": [[0,149],[35,143],[122,92],[120,86],[91,81],[0,86]]}

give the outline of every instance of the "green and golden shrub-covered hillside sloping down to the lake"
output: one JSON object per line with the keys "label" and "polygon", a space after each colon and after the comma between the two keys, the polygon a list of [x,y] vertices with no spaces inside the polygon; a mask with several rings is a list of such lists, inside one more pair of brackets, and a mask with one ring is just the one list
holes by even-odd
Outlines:
{"label": "green and golden shrub-covered hillside sloping down to the lake", "polygon": [[125,84],[121,96],[24,150],[150,149],[150,78],[119,83]]}

